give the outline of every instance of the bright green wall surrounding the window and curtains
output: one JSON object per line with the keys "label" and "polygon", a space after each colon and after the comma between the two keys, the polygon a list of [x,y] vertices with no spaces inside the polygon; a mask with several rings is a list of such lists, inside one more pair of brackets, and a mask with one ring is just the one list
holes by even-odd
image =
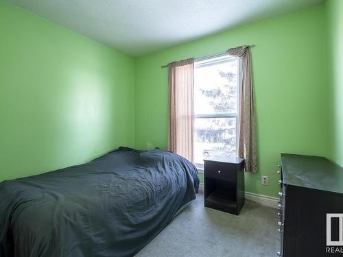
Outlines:
{"label": "bright green wall surrounding the window and curtains", "polygon": [[[167,69],[162,65],[255,44],[259,172],[246,174],[246,191],[276,197],[281,152],[326,154],[324,14],[324,5],[317,5],[137,58],[137,148],[167,147]],[[261,185],[261,175],[269,176],[268,186]]]}

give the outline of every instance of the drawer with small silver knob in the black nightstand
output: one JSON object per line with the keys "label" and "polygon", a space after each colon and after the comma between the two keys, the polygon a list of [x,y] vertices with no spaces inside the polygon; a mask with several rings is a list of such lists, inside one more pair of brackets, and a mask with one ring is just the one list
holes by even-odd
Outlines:
{"label": "drawer with small silver knob in the black nightstand", "polygon": [[237,180],[236,167],[224,162],[210,162],[204,163],[205,178],[215,178],[218,180],[227,180],[235,182]]}

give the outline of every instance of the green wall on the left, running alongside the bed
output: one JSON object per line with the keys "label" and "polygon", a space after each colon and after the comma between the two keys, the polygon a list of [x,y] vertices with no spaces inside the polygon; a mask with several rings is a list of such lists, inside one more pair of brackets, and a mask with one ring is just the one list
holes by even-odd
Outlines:
{"label": "green wall on the left, running alongside the bed", "polygon": [[0,181],[134,146],[134,59],[0,0]]}

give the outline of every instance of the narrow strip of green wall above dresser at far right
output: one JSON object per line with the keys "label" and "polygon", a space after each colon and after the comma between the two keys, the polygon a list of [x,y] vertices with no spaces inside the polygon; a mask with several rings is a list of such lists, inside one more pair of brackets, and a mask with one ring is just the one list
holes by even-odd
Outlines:
{"label": "narrow strip of green wall above dresser at far right", "polygon": [[343,167],[343,1],[329,0],[327,10],[328,157]]}

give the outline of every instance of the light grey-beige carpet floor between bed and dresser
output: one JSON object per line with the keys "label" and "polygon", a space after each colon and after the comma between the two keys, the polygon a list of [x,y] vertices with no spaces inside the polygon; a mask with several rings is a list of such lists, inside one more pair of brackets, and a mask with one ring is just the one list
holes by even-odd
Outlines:
{"label": "light grey-beige carpet floor between bed and dresser", "polygon": [[204,207],[199,193],[135,257],[269,257],[280,249],[277,210],[246,201],[239,216]]}

